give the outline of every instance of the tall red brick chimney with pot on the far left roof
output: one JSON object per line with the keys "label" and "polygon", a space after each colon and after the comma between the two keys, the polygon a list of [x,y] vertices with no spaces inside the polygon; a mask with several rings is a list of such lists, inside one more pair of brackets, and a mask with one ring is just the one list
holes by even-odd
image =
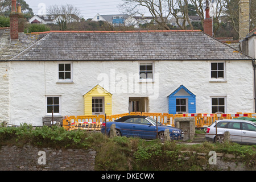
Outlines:
{"label": "tall red brick chimney with pot on the far left roof", "polygon": [[17,42],[18,39],[19,39],[18,20],[19,20],[19,14],[16,11],[16,0],[11,0],[11,13],[10,13],[10,38],[11,38],[11,42]]}

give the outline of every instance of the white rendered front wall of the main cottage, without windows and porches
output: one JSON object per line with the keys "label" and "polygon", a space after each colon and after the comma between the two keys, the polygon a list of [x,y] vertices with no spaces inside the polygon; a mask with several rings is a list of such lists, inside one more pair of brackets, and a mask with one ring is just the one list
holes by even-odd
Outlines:
{"label": "white rendered front wall of the main cottage, without windows and porches", "polygon": [[181,84],[196,95],[197,113],[210,113],[211,96],[226,96],[227,113],[253,112],[251,61],[226,61],[225,82],[210,82],[210,61],[154,61],[146,91],[138,61],[73,61],[72,83],[57,83],[59,63],[71,62],[10,62],[10,123],[42,125],[46,96],[61,96],[61,115],[84,115],[83,95],[97,84],[113,94],[112,114],[127,113],[129,97],[148,97],[148,112],[167,113],[167,96]]}

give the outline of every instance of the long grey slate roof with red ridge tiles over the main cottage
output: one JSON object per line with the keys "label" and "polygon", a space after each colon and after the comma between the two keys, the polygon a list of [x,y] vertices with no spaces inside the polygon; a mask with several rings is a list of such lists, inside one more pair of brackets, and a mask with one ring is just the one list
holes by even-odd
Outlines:
{"label": "long grey slate roof with red ridge tiles over the main cottage", "polygon": [[50,31],[12,60],[251,60],[202,31]]}

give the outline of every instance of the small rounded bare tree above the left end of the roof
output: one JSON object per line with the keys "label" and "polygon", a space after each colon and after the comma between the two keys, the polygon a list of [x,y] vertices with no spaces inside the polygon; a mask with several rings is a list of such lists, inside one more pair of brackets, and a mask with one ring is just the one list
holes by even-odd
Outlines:
{"label": "small rounded bare tree above the left end of the roof", "polygon": [[67,30],[68,23],[73,22],[73,19],[79,19],[80,10],[73,5],[54,5],[49,7],[48,14],[56,16],[55,20],[60,30]]}

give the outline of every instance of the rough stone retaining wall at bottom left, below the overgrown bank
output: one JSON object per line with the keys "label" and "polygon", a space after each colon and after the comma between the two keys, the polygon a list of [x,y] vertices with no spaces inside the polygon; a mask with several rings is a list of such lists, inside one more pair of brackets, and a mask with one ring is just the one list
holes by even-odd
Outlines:
{"label": "rough stone retaining wall at bottom left, below the overgrown bank", "polygon": [[1,146],[0,171],[93,171],[96,151]]}

